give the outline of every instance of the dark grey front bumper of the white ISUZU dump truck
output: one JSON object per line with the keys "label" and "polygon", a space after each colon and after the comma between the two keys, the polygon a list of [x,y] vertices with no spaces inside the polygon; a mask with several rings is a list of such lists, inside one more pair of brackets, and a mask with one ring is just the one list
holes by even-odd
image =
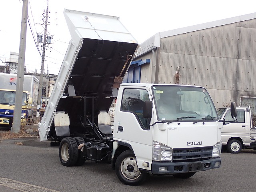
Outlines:
{"label": "dark grey front bumper of the white ISUZU dump truck", "polygon": [[209,159],[200,162],[152,162],[151,174],[176,174],[205,171],[209,169],[219,168],[221,158]]}

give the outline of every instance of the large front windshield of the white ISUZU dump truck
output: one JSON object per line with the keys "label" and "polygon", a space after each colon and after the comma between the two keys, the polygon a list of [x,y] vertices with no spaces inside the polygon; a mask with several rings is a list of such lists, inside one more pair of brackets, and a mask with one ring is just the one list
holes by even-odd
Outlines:
{"label": "large front windshield of the white ISUZU dump truck", "polygon": [[218,120],[212,99],[204,88],[159,85],[152,90],[158,120]]}

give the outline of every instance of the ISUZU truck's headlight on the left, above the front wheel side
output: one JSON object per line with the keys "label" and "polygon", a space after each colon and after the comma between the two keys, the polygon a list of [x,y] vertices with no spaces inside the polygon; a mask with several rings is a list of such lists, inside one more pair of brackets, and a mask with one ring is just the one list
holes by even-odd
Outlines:
{"label": "ISUZU truck's headlight on the left, above the front wheel side", "polygon": [[172,161],[172,148],[153,141],[153,161]]}

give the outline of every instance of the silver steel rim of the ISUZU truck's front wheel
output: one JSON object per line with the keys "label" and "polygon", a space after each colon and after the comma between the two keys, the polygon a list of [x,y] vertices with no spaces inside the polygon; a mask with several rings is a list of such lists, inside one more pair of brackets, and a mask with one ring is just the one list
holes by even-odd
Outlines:
{"label": "silver steel rim of the ISUZU truck's front wheel", "polygon": [[137,166],[136,158],[127,157],[122,160],[121,172],[122,175],[129,180],[137,179],[140,176],[141,172]]}

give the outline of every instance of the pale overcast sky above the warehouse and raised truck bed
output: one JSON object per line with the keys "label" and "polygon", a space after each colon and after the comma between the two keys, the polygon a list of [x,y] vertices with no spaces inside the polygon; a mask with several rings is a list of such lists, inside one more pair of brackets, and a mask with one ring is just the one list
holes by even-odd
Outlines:
{"label": "pale overcast sky above the warehouse and raised truck bed", "polygon": [[[46,0],[29,0],[32,32],[28,25],[25,66],[30,72],[41,68],[42,59],[32,33],[35,37],[37,33],[44,33],[41,24],[46,5]],[[256,0],[49,0],[48,6],[48,32],[54,36],[52,48],[46,50],[44,71],[49,70],[50,74],[58,74],[71,39],[64,8],[119,16],[139,44],[157,32],[256,12]],[[22,0],[1,1],[0,59],[3,61],[10,57],[10,52],[19,52],[21,16]]]}

